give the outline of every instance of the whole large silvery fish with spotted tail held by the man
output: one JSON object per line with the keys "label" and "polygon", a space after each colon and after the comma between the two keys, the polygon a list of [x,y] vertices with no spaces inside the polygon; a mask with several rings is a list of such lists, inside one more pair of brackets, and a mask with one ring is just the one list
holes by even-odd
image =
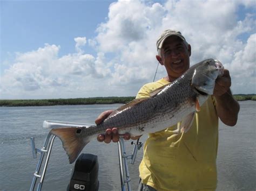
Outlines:
{"label": "whole large silvery fish with spotted tail held by the man", "polygon": [[[218,60],[207,59],[190,67],[174,82],[157,89],[150,98],[136,99],[114,111],[101,124],[89,128],[52,129],[63,143],[70,163],[76,160],[83,147],[106,129],[118,128],[119,133],[139,136],[169,128],[182,121],[176,133],[187,132],[194,113],[213,94],[215,79],[223,74]],[[152,94],[153,94],[152,93]]]}

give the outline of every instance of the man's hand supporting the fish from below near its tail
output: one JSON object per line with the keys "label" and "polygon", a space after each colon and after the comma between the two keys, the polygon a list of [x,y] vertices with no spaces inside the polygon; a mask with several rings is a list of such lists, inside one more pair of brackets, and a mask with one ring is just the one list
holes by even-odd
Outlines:
{"label": "man's hand supporting the fish from below near its tail", "polygon": [[[102,114],[100,114],[96,118],[95,123],[96,124],[102,123],[104,121],[104,119],[106,119],[112,112],[113,112],[113,110],[107,110],[107,111],[102,112]],[[129,140],[130,138],[138,139],[140,137],[140,136],[131,137],[129,133],[119,135],[118,129],[112,128],[112,129],[106,129],[105,134],[98,135],[97,140],[98,140],[98,142],[105,142],[105,143],[110,143],[112,140],[114,143],[117,143],[119,141],[119,136],[124,137],[125,140]]]}

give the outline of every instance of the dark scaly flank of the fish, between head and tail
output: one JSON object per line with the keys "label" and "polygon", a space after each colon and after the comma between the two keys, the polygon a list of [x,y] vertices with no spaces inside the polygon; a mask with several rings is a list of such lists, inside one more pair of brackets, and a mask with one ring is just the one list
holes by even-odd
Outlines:
{"label": "dark scaly flank of the fish, between head and tail", "polygon": [[[183,108],[184,105],[193,107],[193,104],[190,104],[191,99],[196,99],[197,94],[188,83],[189,80],[190,76],[188,75],[187,77],[181,77],[180,81],[167,86],[166,91],[159,96],[153,97],[147,102],[139,103],[138,107],[126,109],[106,119],[102,124],[97,125],[97,128],[99,128],[97,132],[114,126],[119,129],[120,133],[129,132],[131,136],[136,136],[145,131],[145,126],[151,126],[150,129],[153,129],[158,122],[172,121],[174,113]],[[181,91],[180,86],[183,87]],[[130,128],[130,130],[127,128]],[[135,130],[131,131],[132,129]],[[146,132],[156,132],[156,129],[147,130]]]}

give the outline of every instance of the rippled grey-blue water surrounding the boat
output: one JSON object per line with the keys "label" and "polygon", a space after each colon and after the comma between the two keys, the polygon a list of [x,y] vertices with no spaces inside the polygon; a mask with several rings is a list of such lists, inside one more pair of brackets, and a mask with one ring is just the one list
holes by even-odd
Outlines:
{"label": "rippled grey-blue water surrounding the boat", "polygon": [[[100,112],[115,109],[112,105],[65,105],[49,107],[0,108],[0,190],[29,190],[38,159],[33,159],[30,137],[36,146],[43,146],[48,130],[42,128],[44,120],[93,123]],[[228,127],[220,122],[217,190],[256,190],[256,102],[240,102],[237,125]],[[144,142],[146,136],[140,140]],[[128,154],[132,152],[126,142]],[[138,151],[136,164],[129,164],[132,190],[138,188],[138,165],[142,159]],[[120,190],[117,144],[90,142],[83,153],[98,155],[99,190]],[[39,155],[38,155],[39,156]],[[73,164],[55,139],[46,171],[43,190],[66,190]]]}

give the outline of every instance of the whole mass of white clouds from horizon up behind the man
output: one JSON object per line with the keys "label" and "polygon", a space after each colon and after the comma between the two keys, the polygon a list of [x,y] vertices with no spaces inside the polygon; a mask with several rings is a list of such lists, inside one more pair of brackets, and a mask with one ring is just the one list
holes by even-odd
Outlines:
{"label": "whole mass of white clouds from horizon up behind the man", "polygon": [[[96,55],[82,50],[85,37],[74,38],[77,52],[73,54],[58,56],[60,46],[48,44],[18,53],[4,71],[0,94],[5,98],[136,95],[144,83],[153,80],[156,39],[166,29],[184,34],[192,46],[192,64],[217,58],[230,70],[234,93],[256,93],[255,13],[240,13],[244,16],[239,17],[241,6],[255,8],[255,3],[112,3],[108,18],[96,29],[96,37],[88,40]],[[165,75],[164,67],[159,66],[156,79]]]}

